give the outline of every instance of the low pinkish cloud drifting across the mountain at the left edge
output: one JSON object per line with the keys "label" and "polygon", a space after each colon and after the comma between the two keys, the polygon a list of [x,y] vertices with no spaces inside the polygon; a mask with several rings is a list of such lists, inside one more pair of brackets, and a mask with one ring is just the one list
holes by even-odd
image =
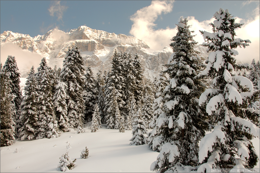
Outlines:
{"label": "low pinkish cloud drifting across the mountain at the left edge", "polygon": [[31,69],[34,65],[34,69],[40,66],[42,57],[29,50],[22,50],[13,43],[6,43],[0,46],[0,60],[4,65],[8,55],[14,56],[19,70]]}

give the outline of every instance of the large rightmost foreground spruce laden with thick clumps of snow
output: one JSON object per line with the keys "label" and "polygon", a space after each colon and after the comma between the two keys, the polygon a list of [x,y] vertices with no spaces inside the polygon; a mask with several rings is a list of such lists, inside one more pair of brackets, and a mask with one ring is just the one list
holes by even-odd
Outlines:
{"label": "large rightmost foreground spruce laden with thick clumps of snow", "polygon": [[[206,61],[207,68],[200,76],[213,79],[213,88],[208,88],[199,98],[199,105],[206,110],[211,133],[200,141],[198,172],[208,172],[210,168],[254,167],[258,158],[252,142],[259,136],[259,128],[248,121],[245,109],[253,94],[252,82],[233,73],[236,66],[237,47],[246,47],[249,40],[235,39],[235,29],[243,24],[235,23],[228,10],[220,8],[210,23],[213,33],[200,31],[208,51],[212,51]],[[239,158],[235,158],[235,155]]]}

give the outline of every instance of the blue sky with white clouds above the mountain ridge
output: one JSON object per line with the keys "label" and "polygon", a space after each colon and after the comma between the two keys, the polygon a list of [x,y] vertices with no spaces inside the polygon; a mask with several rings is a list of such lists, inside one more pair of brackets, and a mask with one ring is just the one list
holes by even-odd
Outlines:
{"label": "blue sky with white clouds above the mountain ridge", "polygon": [[259,60],[260,1],[0,1],[0,33],[4,31],[44,35],[56,28],[64,32],[79,26],[125,34],[145,41],[151,49],[169,46],[176,24],[188,19],[195,41],[202,44],[199,30],[212,32],[209,23],[220,8],[228,9],[237,23],[237,38],[249,39],[247,48],[237,49],[237,60]]}

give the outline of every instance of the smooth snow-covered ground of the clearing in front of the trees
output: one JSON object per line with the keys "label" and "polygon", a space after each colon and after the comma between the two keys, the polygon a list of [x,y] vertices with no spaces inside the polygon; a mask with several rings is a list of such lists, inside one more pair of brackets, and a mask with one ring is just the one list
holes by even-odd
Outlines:
{"label": "smooth snow-covered ground of the clearing in front of the trees", "polygon": [[[16,140],[13,145],[1,147],[0,172],[60,172],[57,165],[59,158],[66,153],[67,145],[71,147],[67,150],[70,158],[77,159],[76,167],[69,172],[152,172],[150,165],[159,153],[148,145],[129,145],[131,130],[120,133],[106,129],[105,124],[97,132],[85,129],[86,133],[71,131],[54,139]],[[259,156],[259,138],[252,142]],[[80,159],[85,147],[89,150],[89,157]],[[255,168],[259,167],[258,162]]]}

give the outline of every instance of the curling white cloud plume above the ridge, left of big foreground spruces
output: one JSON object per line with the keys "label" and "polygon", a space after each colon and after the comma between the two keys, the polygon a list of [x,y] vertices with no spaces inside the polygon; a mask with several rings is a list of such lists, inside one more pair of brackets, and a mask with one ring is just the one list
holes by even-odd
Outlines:
{"label": "curling white cloud plume above the ridge, left of big foreground spruces", "polygon": [[177,33],[176,29],[166,28],[155,30],[154,23],[159,15],[172,11],[174,1],[152,1],[150,6],[144,7],[130,18],[133,21],[130,34],[143,40],[152,49],[160,50],[169,46],[170,39]]}

